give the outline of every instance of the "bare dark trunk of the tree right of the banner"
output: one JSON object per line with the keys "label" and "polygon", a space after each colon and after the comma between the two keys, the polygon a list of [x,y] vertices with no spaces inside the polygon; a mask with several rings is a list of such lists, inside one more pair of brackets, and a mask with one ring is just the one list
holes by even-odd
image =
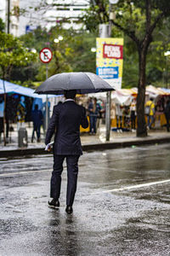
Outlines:
{"label": "bare dark trunk of the tree right of the banner", "polygon": [[145,67],[146,51],[139,48],[139,84],[137,96],[137,137],[147,136],[147,127],[144,119],[144,101],[145,101]]}

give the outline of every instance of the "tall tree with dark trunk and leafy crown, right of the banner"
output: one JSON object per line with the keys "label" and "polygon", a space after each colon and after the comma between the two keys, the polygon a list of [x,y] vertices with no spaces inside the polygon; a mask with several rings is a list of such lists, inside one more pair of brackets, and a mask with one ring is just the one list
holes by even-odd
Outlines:
{"label": "tall tree with dark trunk and leafy crown, right of the banner", "polygon": [[[108,1],[92,1],[84,22],[90,29],[94,24],[109,22]],[[137,136],[147,136],[144,120],[144,98],[146,84],[146,57],[150,44],[154,40],[156,26],[170,15],[170,2],[166,0],[119,0],[114,6],[116,19],[112,25],[120,29],[133,40],[139,55],[139,82],[137,97],[138,129]],[[90,20],[88,22],[87,20]]]}

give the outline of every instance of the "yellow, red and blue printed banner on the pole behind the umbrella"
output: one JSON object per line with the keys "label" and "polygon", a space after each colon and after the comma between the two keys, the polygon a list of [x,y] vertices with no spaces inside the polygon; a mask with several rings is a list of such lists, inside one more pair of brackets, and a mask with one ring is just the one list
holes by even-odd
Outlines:
{"label": "yellow, red and blue printed banner on the pole behind the umbrella", "polygon": [[96,38],[96,74],[122,88],[123,38]]}

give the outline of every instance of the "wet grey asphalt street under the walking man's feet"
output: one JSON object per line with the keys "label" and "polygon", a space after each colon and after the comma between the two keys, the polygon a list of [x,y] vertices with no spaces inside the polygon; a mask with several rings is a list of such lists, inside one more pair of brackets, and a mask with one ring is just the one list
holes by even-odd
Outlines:
{"label": "wet grey asphalt street under the walking man's feet", "polygon": [[84,153],[73,214],[48,208],[51,154],[0,159],[0,255],[170,255],[170,144]]}

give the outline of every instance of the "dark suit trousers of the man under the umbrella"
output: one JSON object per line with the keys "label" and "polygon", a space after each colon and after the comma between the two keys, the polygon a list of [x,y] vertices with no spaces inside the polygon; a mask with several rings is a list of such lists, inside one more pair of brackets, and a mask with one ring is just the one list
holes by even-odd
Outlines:
{"label": "dark suit trousers of the man under the umbrella", "polygon": [[54,154],[54,171],[51,177],[50,197],[59,199],[61,188],[61,174],[63,162],[66,158],[67,166],[67,191],[66,205],[72,206],[77,191],[78,159],[80,155],[59,155]]}

